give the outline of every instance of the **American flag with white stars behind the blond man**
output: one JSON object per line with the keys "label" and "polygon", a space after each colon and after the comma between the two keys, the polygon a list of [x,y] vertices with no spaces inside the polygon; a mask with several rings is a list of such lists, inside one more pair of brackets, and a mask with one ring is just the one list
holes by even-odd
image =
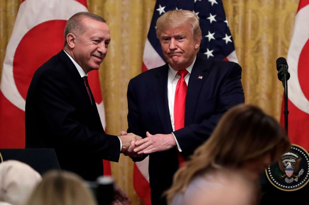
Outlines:
{"label": "American flag with white stars behind the blond man", "polygon": [[[155,25],[159,16],[176,9],[193,11],[200,20],[202,42],[198,55],[208,59],[238,62],[234,41],[221,0],[157,0],[145,42],[143,71],[166,63],[159,39],[156,37]],[[146,205],[151,204],[148,157],[135,163],[134,187],[143,202]]]}

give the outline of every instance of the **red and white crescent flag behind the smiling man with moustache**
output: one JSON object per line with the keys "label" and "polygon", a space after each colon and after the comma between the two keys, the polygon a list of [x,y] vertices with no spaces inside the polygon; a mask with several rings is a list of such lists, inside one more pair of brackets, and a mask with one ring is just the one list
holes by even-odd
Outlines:
{"label": "red and white crescent flag behind the smiling man with moustache", "polygon": [[[64,45],[64,27],[75,13],[88,11],[86,0],[23,0],[7,45],[0,85],[0,148],[25,148],[25,103],[37,68]],[[105,128],[104,105],[97,71],[89,84]],[[109,162],[104,173],[110,175]]]}

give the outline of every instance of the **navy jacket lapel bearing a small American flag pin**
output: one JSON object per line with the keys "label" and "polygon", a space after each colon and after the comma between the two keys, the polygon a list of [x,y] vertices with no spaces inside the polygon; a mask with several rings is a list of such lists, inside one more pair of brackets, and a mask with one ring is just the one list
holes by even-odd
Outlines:
{"label": "navy jacket lapel bearing a small American flag pin", "polygon": [[204,60],[197,55],[188,82],[186,96],[186,111],[184,125],[192,124],[198,96],[208,74],[211,65],[205,64]]}

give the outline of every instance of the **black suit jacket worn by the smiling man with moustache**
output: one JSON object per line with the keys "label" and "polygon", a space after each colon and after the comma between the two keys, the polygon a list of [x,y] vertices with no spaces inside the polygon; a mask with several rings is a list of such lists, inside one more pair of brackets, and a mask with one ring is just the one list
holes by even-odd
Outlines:
{"label": "black suit jacket worn by the smiling man with moustache", "polygon": [[119,160],[119,139],[105,134],[97,106],[64,51],[33,75],[26,98],[26,148],[54,148],[60,167],[86,180],[103,175],[102,159]]}

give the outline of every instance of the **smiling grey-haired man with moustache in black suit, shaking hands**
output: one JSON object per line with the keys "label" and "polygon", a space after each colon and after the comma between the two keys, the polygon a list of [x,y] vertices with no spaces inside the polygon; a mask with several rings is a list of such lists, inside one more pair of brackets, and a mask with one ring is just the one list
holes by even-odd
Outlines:
{"label": "smiling grey-haired man with moustache in black suit, shaking hands", "polygon": [[132,140],[105,134],[88,85],[111,40],[106,21],[80,12],[65,27],[64,50],[33,75],[26,98],[26,148],[54,148],[60,167],[85,180],[103,175],[102,159],[118,162]]}

